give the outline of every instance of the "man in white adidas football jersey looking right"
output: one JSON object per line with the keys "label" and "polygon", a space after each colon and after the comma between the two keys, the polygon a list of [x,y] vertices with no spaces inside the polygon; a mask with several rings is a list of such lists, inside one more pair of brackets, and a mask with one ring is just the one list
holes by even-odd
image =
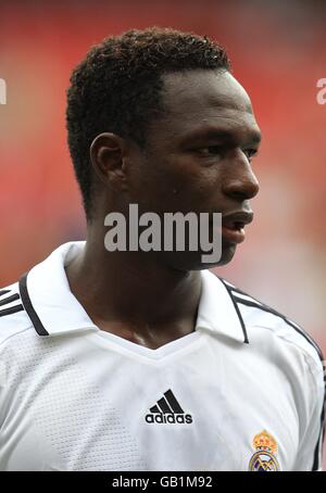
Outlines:
{"label": "man in white adidas football jersey looking right", "polygon": [[260,130],[225,51],[172,29],[105,39],[73,72],[67,131],[87,241],[1,292],[0,469],[319,469],[314,341],[200,249],[104,243],[130,204],[221,213],[215,265],[233,258]]}

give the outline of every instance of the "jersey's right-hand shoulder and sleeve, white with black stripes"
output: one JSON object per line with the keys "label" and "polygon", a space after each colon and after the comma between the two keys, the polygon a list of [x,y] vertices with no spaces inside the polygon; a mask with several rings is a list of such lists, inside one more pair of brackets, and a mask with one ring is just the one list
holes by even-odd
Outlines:
{"label": "jersey's right-hand shoulder and sleeve, white with black stripes", "polygon": [[311,437],[311,447],[315,447],[313,468],[318,469],[326,408],[326,362],[321,347],[309,332],[286,315],[225,279],[220,280],[231,296],[247,331],[249,351],[251,349],[261,362],[272,364],[281,379],[290,383],[302,429],[308,430],[305,434]]}

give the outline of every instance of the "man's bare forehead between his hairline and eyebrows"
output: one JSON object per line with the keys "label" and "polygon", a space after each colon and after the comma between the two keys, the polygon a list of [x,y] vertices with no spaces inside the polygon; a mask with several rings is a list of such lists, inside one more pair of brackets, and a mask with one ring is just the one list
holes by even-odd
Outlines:
{"label": "man's bare forehead between his hairline and eyebrows", "polygon": [[163,76],[164,116],[154,127],[160,135],[183,138],[200,130],[250,134],[259,140],[251,101],[228,72],[187,71]]}

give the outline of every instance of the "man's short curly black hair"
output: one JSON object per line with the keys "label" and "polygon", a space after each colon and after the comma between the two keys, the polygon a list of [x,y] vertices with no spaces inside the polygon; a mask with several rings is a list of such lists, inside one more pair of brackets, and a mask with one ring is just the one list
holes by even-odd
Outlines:
{"label": "man's short curly black hair", "polygon": [[146,130],[162,114],[162,75],[189,69],[230,71],[227,54],[206,36],[172,28],[131,29],[93,46],[67,89],[67,141],[87,219],[91,217],[89,148],[101,132],[146,146]]}

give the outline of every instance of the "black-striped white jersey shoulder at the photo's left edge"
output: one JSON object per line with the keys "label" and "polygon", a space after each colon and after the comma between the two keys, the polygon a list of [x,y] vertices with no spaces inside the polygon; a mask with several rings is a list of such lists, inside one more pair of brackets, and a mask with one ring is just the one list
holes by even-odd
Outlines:
{"label": "black-striped white jersey shoulder at the photo's left edge", "polygon": [[18,289],[18,282],[0,288],[0,350],[5,341],[26,330],[33,330]]}

